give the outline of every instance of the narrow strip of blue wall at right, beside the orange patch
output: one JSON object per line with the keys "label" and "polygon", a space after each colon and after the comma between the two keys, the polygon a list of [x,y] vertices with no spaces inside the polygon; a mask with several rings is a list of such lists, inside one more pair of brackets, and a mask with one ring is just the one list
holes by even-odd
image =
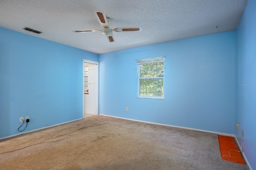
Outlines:
{"label": "narrow strip of blue wall at right, beside the orange patch", "polygon": [[249,0],[236,29],[236,115],[235,130],[240,146],[256,170],[256,1]]}

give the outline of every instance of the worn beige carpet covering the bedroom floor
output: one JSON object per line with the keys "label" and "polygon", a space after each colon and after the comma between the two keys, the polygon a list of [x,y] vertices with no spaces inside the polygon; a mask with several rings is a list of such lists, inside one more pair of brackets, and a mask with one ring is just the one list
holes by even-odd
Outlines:
{"label": "worn beige carpet covering the bedroom floor", "polygon": [[102,115],[0,141],[0,170],[249,170],[216,134]]}

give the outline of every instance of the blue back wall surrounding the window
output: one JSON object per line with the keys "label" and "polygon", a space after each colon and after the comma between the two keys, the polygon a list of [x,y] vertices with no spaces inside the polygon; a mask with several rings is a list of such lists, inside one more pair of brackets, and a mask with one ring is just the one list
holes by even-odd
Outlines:
{"label": "blue back wall surrounding the window", "polygon": [[[158,56],[166,56],[165,99],[136,98],[135,59]],[[234,134],[235,31],[100,54],[99,61],[100,114]]]}

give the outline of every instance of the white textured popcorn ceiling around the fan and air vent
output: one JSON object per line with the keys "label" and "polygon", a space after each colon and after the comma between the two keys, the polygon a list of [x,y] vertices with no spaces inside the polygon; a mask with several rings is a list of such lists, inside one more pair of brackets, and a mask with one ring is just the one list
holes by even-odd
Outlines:
{"label": "white textured popcorn ceiling around the fan and air vent", "polygon": [[[101,54],[236,29],[248,0],[0,0],[0,26]],[[141,32],[113,32],[109,43],[94,10],[112,20],[110,28],[142,27]],[[216,28],[218,26],[218,28]],[[22,28],[30,27],[41,34]]]}

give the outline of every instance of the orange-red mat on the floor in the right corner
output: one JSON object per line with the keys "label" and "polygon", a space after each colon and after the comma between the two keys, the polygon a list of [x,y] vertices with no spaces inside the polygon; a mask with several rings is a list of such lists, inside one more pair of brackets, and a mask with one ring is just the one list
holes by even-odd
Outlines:
{"label": "orange-red mat on the floor in the right corner", "polygon": [[233,137],[218,135],[221,158],[226,161],[244,164],[244,159]]}

